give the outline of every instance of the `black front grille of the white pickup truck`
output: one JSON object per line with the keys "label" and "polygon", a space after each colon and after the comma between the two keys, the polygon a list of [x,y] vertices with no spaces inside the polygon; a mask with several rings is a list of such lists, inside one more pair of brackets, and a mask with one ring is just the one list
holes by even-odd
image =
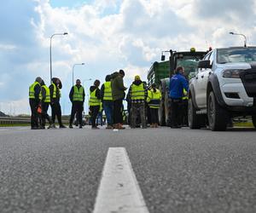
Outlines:
{"label": "black front grille of the white pickup truck", "polygon": [[248,69],[240,73],[241,82],[249,97],[256,97],[256,69]]}

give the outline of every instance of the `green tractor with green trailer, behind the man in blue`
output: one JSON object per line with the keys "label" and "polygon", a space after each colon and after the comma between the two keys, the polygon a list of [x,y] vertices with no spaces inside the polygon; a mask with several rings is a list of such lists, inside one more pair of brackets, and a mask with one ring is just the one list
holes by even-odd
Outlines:
{"label": "green tractor with green trailer, behind the man in blue", "polygon": [[[169,52],[169,60],[165,60],[164,52]],[[198,61],[201,60],[207,51],[195,51],[191,48],[190,51],[163,51],[161,62],[155,61],[148,71],[148,86],[156,83],[162,94],[159,109],[159,123],[162,126],[170,125],[170,110],[169,110],[169,83],[177,66],[183,66],[185,75],[188,80],[195,76]]]}

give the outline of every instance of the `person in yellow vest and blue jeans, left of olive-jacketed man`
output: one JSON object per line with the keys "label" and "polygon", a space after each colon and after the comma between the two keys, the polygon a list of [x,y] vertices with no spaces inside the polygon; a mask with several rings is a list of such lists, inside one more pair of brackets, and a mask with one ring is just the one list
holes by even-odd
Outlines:
{"label": "person in yellow vest and blue jeans, left of olive-jacketed man", "polygon": [[102,84],[101,99],[102,107],[107,117],[108,126],[106,129],[111,130],[113,128],[113,97],[111,88],[111,76],[107,75],[106,82]]}

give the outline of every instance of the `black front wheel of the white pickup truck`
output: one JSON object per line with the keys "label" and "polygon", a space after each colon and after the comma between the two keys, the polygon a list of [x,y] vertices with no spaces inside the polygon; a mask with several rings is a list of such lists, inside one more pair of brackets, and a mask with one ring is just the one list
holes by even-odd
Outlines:
{"label": "black front wheel of the white pickup truck", "polygon": [[229,121],[228,112],[219,106],[213,91],[208,95],[207,116],[209,128],[212,131],[224,131],[227,129]]}

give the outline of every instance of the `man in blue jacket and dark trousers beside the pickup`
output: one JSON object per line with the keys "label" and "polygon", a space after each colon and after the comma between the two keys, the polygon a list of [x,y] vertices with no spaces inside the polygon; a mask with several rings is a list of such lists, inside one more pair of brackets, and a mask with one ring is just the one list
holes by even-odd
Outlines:
{"label": "man in blue jacket and dark trousers beside the pickup", "polygon": [[183,103],[183,89],[189,91],[189,83],[183,76],[184,69],[178,66],[175,75],[170,78],[170,94],[171,99],[171,128],[181,128],[181,114]]}

